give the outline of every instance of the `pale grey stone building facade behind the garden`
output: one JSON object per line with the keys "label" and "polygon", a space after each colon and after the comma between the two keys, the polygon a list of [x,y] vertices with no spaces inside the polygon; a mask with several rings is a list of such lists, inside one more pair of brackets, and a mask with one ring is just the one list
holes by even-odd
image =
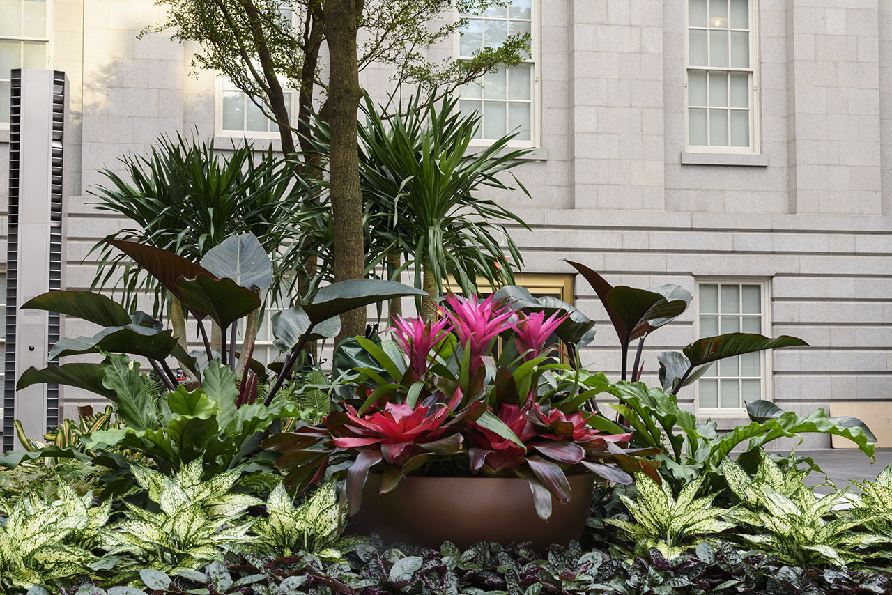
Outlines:
{"label": "pale grey stone building facade behind the garden", "polygon": [[[95,265],[81,260],[122,225],[89,206],[97,170],[116,169],[121,154],[145,152],[162,133],[197,131],[225,147],[245,134],[222,126],[225,110],[238,108],[224,105],[214,73],[190,75],[190,47],[137,37],[161,17],[148,0],[0,4],[45,6],[45,37],[19,41],[44,42],[45,66],[70,79],[67,278],[88,287]],[[491,16],[533,39],[528,67],[509,72],[516,78],[500,95],[511,110],[519,94],[508,122],[528,118],[535,146],[517,169],[533,200],[498,197],[533,229],[513,232],[524,271],[566,278],[567,258],[615,284],[689,289],[690,310],[648,342],[648,381],[659,351],[713,329],[810,343],[734,360],[681,394],[724,425],[756,396],[803,413],[892,400],[892,0],[515,4],[519,12]],[[483,21],[483,36],[497,30]],[[0,34],[0,47],[4,40],[17,37]],[[460,39],[436,48],[463,51]],[[367,70],[362,82],[380,93],[387,73]],[[489,109],[486,94],[504,82],[487,85],[483,99],[466,89],[463,105]],[[493,129],[504,118],[496,103],[495,115],[484,114]],[[8,139],[0,124],[3,211]],[[582,279],[567,286],[599,320],[583,359],[618,376],[597,297]],[[78,333],[69,323],[66,334]]]}

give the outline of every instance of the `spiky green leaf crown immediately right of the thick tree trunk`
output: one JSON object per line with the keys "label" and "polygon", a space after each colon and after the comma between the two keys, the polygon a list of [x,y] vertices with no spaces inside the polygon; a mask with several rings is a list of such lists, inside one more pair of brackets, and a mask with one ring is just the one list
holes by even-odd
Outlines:
{"label": "spiky green leaf crown immediately right of the thick tree trunk", "polygon": [[[396,112],[384,113],[366,96],[359,121],[359,178],[366,202],[366,267],[372,271],[387,264],[394,275],[414,266],[416,286],[431,296],[421,299],[422,315],[429,319],[450,275],[468,295],[477,293],[482,280],[489,287],[513,283],[511,269],[523,260],[505,225],[528,227],[478,193],[519,188],[529,196],[510,170],[531,149],[512,148],[514,133],[476,150],[471,142],[480,114],[461,112],[458,97],[445,96],[439,103],[425,97],[414,95]],[[314,121],[310,142],[322,155],[328,154],[328,137],[326,123]]]}

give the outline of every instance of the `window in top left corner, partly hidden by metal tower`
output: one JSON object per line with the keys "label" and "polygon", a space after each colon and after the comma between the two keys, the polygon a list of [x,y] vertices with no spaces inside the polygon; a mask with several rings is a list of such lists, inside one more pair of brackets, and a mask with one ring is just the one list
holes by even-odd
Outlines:
{"label": "window in top left corner, partly hidden by metal tower", "polygon": [[12,70],[45,69],[48,0],[0,0],[0,124],[9,123]]}

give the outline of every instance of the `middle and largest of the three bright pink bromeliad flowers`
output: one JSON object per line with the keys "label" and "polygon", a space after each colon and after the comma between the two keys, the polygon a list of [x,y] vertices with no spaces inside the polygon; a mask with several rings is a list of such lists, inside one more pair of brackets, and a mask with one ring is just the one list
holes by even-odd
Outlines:
{"label": "middle and largest of the three bright pink bromeliad flowers", "polygon": [[446,296],[451,310],[446,310],[446,316],[452,321],[455,334],[462,346],[470,351],[472,371],[480,364],[477,358],[491,351],[492,342],[505,330],[514,328],[514,322],[509,319],[514,316],[512,310],[494,302],[494,296],[490,296],[480,302],[476,296],[462,298],[450,293]]}

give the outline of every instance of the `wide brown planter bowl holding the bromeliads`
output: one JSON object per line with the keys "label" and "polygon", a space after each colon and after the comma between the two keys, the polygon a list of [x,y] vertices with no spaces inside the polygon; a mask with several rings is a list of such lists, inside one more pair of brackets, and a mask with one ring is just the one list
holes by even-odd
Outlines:
{"label": "wide brown planter bowl holding the bromeliads", "polygon": [[537,550],[579,539],[589,516],[594,475],[570,475],[573,498],[552,499],[552,513],[536,515],[533,492],[517,477],[403,478],[381,495],[381,475],[374,474],[353,516],[358,533],[378,533],[384,541],[405,541],[439,550],[443,541],[465,549],[477,541],[533,541]]}

